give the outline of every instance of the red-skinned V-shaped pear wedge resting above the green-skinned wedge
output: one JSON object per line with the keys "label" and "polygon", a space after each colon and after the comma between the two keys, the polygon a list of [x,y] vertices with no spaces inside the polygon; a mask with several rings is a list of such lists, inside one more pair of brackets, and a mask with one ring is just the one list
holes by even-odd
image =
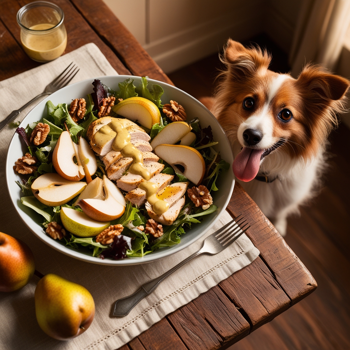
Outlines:
{"label": "red-skinned V-shaped pear wedge resting above the green-skinned wedge", "polygon": [[125,211],[125,198],[116,185],[103,176],[105,199],[86,198],[78,202],[80,208],[91,219],[97,221],[111,221],[119,218]]}

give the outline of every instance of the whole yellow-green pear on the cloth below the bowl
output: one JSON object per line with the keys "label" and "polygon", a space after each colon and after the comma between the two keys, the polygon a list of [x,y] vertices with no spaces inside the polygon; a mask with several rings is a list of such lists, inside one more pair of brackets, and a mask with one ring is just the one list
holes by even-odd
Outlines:
{"label": "whole yellow-green pear on the cloth below the bowl", "polygon": [[37,283],[34,300],[40,328],[59,340],[82,334],[95,314],[95,303],[86,288],[53,273]]}

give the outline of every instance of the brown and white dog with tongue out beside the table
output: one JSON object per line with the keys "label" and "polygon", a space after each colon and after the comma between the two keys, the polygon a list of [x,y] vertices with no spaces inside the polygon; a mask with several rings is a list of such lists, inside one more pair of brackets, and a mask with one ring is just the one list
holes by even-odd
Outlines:
{"label": "brown and white dog with tongue out beside the table", "polygon": [[306,65],[297,79],[268,69],[259,48],[229,40],[211,111],[224,127],[239,183],[285,235],[287,216],[313,195],[327,137],[344,111],[349,81]]}

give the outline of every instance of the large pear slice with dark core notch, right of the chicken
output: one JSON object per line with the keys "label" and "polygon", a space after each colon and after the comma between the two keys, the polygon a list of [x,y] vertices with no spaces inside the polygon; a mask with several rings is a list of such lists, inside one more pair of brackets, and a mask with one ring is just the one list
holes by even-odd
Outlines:
{"label": "large pear slice with dark core notch, right of the chicken", "polygon": [[[204,177],[205,162],[202,155],[194,148],[182,145],[159,145],[154,149],[160,159],[169,163],[177,173],[183,174],[195,185]],[[184,167],[182,172],[176,165]]]}

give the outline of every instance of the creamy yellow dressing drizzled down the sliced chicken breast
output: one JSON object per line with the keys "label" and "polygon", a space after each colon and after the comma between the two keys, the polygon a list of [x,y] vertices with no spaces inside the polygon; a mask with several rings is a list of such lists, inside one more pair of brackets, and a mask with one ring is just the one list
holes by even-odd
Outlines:
{"label": "creamy yellow dressing drizzled down the sliced chicken breast", "polygon": [[101,127],[94,135],[95,140],[102,145],[113,140],[112,148],[114,151],[121,152],[124,157],[133,159],[129,168],[132,174],[141,175],[145,182],[141,182],[139,187],[146,191],[147,201],[153,205],[153,211],[156,214],[163,214],[169,209],[169,203],[157,198],[158,185],[148,181],[151,179],[151,173],[144,166],[142,152],[139,151],[131,142],[131,136],[126,127],[118,120]]}

